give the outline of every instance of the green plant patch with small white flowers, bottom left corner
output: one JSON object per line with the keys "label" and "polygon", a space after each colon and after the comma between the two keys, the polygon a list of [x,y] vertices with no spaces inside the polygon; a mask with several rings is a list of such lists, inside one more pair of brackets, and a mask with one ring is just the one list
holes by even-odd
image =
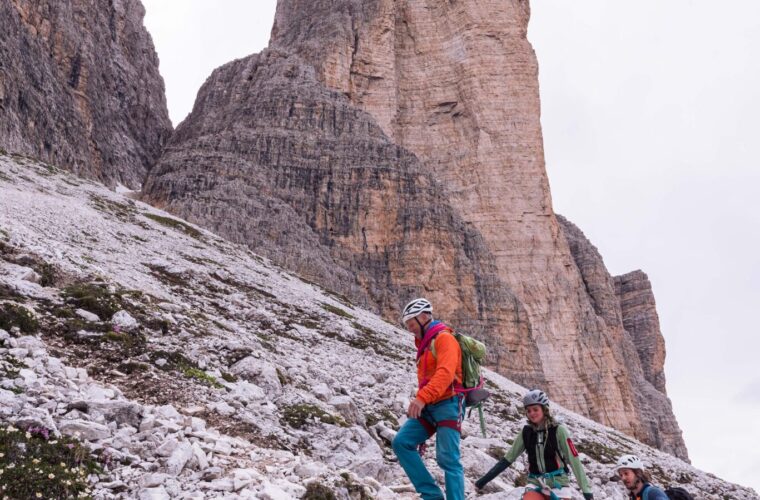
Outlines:
{"label": "green plant patch with small white flowers, bottom left corner", "polygon": [[91,498],[87,476],[100,464],[79,441],[44,428],[0,427],[3,498]]}

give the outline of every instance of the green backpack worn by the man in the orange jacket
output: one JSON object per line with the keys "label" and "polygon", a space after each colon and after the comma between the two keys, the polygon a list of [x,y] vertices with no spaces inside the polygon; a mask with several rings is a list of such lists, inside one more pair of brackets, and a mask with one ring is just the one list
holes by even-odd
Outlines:
{"label": "green backpack worn by the man in the orange jacket", "polygon": [[[454,338],[459,343],[462,351],[462,385],[455,385],[454,392],[464,394],[464,403],[466,407],[477,408],[480,416],[480,432],[486,437],[486,421],[483,417],[483,403],[491,395],[483,388],[485,379],[481,374],[480,367],[486,360],[486,345],[469,335],[454,332]],[[430,342],[430,352],[435,355],[435,339]]]}

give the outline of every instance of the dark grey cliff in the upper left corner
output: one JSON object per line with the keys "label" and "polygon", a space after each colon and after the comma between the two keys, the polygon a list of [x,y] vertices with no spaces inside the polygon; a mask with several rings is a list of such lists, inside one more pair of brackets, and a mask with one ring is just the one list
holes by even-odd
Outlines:
{"label": "dark grey cliff in the upper left corner", "polygon": [[136,188],[171,134],[139,0],[0,0],[0,147]]}

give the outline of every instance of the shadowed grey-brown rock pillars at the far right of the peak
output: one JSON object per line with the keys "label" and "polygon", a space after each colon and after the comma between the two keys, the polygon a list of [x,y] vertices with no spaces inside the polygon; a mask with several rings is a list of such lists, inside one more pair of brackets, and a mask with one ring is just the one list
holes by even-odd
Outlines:
{"label": "shadowed grey-brown rock pillars at the far right of the peak", "polygon": [[[655,310],[649,279],[641,271],[610,276],[602,256],[580,229],[557,215],[570,245],[586,293],[599,317],[619,339],[634,402],[640,416],[638,433],[647,442],[688,461],[688,451],[665,391],[665,340]],[[624,334],[620,334],[621,329]]]}

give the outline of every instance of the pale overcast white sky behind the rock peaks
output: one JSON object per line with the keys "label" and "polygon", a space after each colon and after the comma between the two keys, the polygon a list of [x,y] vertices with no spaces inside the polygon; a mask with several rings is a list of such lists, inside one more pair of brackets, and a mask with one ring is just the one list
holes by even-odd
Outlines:
{"label": "pale overcast white sky behind the rock peaks", "polygon": [[[179,123],[275,0],[143,0]],[[533,0],[554,209],[652,281],[695,466],[760,491],[760,1]]]}

